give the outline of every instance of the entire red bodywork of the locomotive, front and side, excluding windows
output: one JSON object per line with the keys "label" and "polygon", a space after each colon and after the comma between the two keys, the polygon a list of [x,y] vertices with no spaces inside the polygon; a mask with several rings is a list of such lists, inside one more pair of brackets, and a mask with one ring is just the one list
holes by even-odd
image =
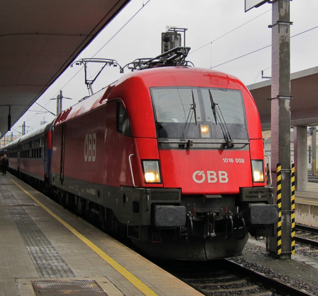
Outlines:
{"label": "entire red bodywork of the locomotive, front and side, excluding windows", "polygon": [[[259,141],[260,153],[220,149],[163,149],[156,136],[154,109],[149,89],[152,87],[203,87],[239,90],[245,104],[249,139]],[[237,194],[239,187],[252,186],[251,155],[263,159],[262,134],[256,105],[245,86],[235,77],[221,72],[186,67],[163,67],[142,70],[122,76],[108,91],[103,89],[72,107],[67,116],[54,126],[52,172],[60,174],[62,125],[64,137],[63,175],[79,180],[112,186],[133,186],[129,155],[136,160],[135,183],[143,187],[177,187],[184,194]],[[132,138],[116,131],[116,101],[126,107]],[[101,103],[100,103],[101,102]],[[94,161],[85,161],[85,136],[95,135]],[[133,141],[132,141],[133,140]],[[89,141],[89,140],[88,140]],[[93,138],[92,138],[93,141]],[[94,140],[95,141],[95,140]],[[70,144],[69,144],[70,143]],[[255,144],[253,144],[256,146]],[[159,145],[160,146],[160,145]],[[261,149],[260,149],[261,148]],[[57,154],[56,152],[57,151]],[[87,152],[88,153],[88,152]],[[93,153],[93,152],[92,152]],[[142,159],[160,160],[162,184],[146,184]],[[232,162],[233,161],[233,162]],[[195,181],[196,171],[206,180]],[[218,176],[213,177],[215,172]],[[220,173],[221,172],[221,173]],[[223,182],[222,172],[227,178]],[[208,175],[207,175],[208,174]],[[220,176],[219,176],[220,174]],[[219,180],[221,177],[221,182]],[[199,177],[198,177],[199,178]],[[215,182],[214,182],[215,181]],[[264,186],[265,183],[257,184]]]}

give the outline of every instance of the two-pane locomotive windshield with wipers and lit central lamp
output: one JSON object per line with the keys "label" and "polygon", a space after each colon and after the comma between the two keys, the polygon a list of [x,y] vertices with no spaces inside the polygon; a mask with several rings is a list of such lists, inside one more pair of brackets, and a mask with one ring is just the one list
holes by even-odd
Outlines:
{"label": "two-pane locomotive windshield with wipers and lit central lamp", "polygon": [[[187,122],[187,139],[224,139],[221,118],[232,139],[248,139],[240,90],[160,87],[151,88],[150,92],[158,138],[180,140]],[[194,103],[196,112],[188,118]]]}

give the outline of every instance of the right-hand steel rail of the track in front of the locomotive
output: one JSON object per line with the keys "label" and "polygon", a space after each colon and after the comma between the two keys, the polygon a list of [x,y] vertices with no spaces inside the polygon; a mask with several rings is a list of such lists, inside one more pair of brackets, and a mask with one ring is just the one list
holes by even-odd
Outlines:
{"label": "right-hand steel rail of the track in front of the locomotive", "polygon": [[280,282],[279,280],[275,278],[270,278],[262,273],[259,273],[258,271],[252,270],[248,267],[245,267],[241,264],[238,264],[236,262],[233,262],[229,259],[225,259],[228,264],[234,265],[234,267],[241,271],[244,274],[247,274],[252,281],[254,282],[260,282],[264,285],[266,289],[269,289],[271,292],[277,292],[284,296],[314,296],[311,293],[308,293],[306,291],[303,291],[301,289],[295,288],[291,285],[287,285],[285,283]]}

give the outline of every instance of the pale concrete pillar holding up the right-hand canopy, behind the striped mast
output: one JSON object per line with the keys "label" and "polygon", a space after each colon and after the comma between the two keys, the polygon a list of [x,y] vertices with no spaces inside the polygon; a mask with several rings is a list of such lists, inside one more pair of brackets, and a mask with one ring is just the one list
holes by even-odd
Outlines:
{"label": "pale concrete pillar holding up the right-hand canopy, behind the striped mast", "polygon": [[307,126],[294,126],[295,190],[307,191]]}

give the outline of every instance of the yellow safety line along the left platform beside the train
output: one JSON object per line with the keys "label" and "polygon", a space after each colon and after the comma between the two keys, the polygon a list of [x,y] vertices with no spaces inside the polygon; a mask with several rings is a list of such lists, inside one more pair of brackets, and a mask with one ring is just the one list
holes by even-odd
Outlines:
{"label": "yellow safety line along the left platform beside the train", "polygon": [[38,199],[36,199],[30,192],[25,190],[21,185],[17,184],[14,180],[11,181],[16,184],[22,191],[24,191],[28,196],[31,197],[39,206],[41,206],[47,213],[63,224],[68,230],[70,230],[75,236],[77,236],[82,242],[84,242],[89,248],[91,248],[97,255],[99,255],[104,261],[111,265],[116,271],[118,271],[123,277],[127,278],[130,283],[132,283],[138,290],[143,294],[149,296],[158,296],[154,291],[152,291],[147,285],[142,283],[138,278],[136,278],[131,272],[118,264],[113,258],[108,256],[103,250],[98,248],[93,242],[87,239],[84,235],[80,234],[75,228],[62,220],[58,215],[54,214],[49,208],[43,205]]}

